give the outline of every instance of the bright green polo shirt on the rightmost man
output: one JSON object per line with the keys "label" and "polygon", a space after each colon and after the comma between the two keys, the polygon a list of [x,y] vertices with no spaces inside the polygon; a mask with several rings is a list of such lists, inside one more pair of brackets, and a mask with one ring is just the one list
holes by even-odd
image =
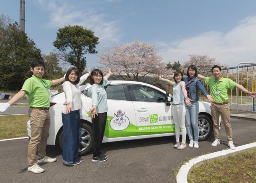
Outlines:
{"label": "bright green polo shirt on the rightmost man", "polygon": [[[228,89],[234,89],[236,83],[229,78],[223,78],[217,82],[215,78],[204,77],[204,82],[209,85],[211,95],[215,102],[221,103],[228,100]],[[219,92],[216,94],[216,92]]]}

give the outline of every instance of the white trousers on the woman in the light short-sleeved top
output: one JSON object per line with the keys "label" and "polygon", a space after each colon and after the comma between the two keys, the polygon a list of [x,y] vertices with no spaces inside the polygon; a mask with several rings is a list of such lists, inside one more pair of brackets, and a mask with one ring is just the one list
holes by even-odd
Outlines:
{"label": "white trousers on the woman in the light short-sleeved top", "polygon": [[186,143],[186,127],[185,127],[185,105],[172,105],[172,122],[175,124],[175,137],[176,142],[180,142],[180,129],[182,142]]}

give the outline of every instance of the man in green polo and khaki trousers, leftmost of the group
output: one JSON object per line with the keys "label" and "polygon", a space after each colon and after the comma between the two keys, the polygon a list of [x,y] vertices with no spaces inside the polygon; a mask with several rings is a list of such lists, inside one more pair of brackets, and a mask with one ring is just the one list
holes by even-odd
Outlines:
{"label": "man in green polo and khaki trousers, leftmost of the group", "polygon": [[[30,71],[33,75],[24,82],[20,92],[14,95],[7,103],[0,103],[0,112],[5,111],[10,105],[22,99],[25,94],[28,95],[28,104],[30,106],[28,115],[31,126],[31,137],[28,144],[28,171],[42,173],[44,169],[37,163],[52,163],[56,161],[56,158],[46,156],[45,151],[50,127],[50,87],[64,82],[65,79],[60,78],[52,81],[42,79],[45,65],[40,60],[32,62]],[[38,151],[37,161],[36,151]]]}

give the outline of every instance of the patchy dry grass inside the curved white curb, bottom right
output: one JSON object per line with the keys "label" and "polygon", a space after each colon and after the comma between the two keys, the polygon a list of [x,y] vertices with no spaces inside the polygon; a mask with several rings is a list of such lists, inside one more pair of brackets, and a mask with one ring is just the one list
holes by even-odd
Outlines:
{"label": "patchy dry grass inside the curved white curb, bottom right", "polygon": [[203,161],[190,169],[188,182],[256,182],[256,149],[229,155],[227,158]]}

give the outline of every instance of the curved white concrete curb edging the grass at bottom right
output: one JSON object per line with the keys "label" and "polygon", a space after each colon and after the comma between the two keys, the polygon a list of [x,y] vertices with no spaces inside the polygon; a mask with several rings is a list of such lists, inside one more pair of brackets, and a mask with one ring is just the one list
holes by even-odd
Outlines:
{"label": "curved white concrete curb edging the grass at bottom right", "polygon": [[178,175],[176,176],[176,181],[177,183],[187,183],[187,176],[188,173],[190,171],[190,169],[196,165],[197,163],[200,163],[201,161],[207,160],[207,159],[212,159],[212,158],[216,158],[216,157],[220,157],[220,156],[226,156],[228,154],[231,153],[236,153],[245,149],[250,149],[256,147],[256,142],[254,143],[249,143],[246,145],[240,145],[238,147],[236,147],[235,150],[231,150],[231,149],[226,149],[226,150],[222,150],[222,151],[217,151],[214,153],[210,153],[210,154],[206,154],[206,155],[202,155],[199,157],[196,157],[194,159],[191,159],[190,161],[188,161],[188,163],[182,165],[182,167],[180,168]]}

